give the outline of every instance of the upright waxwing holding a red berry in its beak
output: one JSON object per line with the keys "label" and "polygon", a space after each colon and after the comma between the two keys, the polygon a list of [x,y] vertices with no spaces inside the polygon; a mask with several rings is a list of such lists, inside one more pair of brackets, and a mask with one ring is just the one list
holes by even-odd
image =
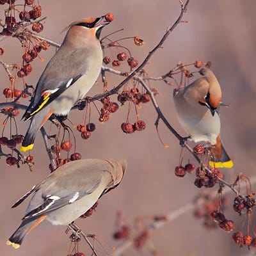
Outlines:
{"label": "upright waxwing holding a red berry in its beak", "polygon": [[20,150],[33,148],[36,133],[50,116],[67,115],[92,88],[102,66],[100,32],[107,24],[102,16],[81,19],[67,27],[67,35],[45,67],[23,116],[24,120],[31,119],[31,123]]}

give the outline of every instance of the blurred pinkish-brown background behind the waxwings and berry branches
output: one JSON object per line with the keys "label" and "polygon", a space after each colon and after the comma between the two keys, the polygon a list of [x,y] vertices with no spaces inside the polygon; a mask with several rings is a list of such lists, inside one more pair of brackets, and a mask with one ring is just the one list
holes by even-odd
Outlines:
{"label": "blurred pinkish-brown background behind the waxwings and berry branches", "polygon": [[[45,29],[41,35],[56,42],[63,40],[64,34],[60,34],[60,31],[70,22],[81,17],[97,17],[113,12],[115,20],[103,30],[102,35],[125,28],[125,31],[118,36],[138,35],[143,38],[146,42],[143,47],[133,46],[129,42],[124,43],[140,61],[159,42],[166,28],[173,24],[180,12],[178,0],[63,0],[41,1],[41,4],[43,15],[47,16]],[[164,48],[153,56],[146,67],[152,76],[159,76],[175,67],[177,61],[184,63],[191,63],[196,59],[212,61],[212,69],[222,86],[223,102],[231,106],[221,111],[223,142],[235,163],[232,170],[224,171],[228,173],[226,177],[230,180],[234,180],[239,172],[255,175],[255,8],[255,0],[191,0],[188,13],[184,17],[185,20],[189,20],[188,24],[180,24],[175,29],[164,43]],[[3,17],[3,6],[1,6],[1,15]],[[1,60],[7,63],[21,62],[22,49],[19,42],[6,39],[0,43],[0,46],[5,50]],[[36,84],[52,54],[54,54],[53,47],[47,52],[42,52],[44,62],[38,60],[33,62],[34,71],[27,79],[29,84]],[[108,77],[110,85],[120,81],[119,77]],[[1,92],[7,86],[8,79],[1,68]],[[164,115],[179,132],[184,134],[173,111],[173,88],[162,82],[152,83],[152,86],[161,92],[157,100]],[[88,95],[92,96],[101,91],[102,84],[99,83]],[[1,99],[4,100],[3,95]],[[74,124],[79,124],[82,115],[82,112],[73,111],[69,117]],[[199,191],[193,185],[194,175],[186,175],[184,179],[175,177],[174,168],[178,164],[180,154],[179,143],[161,124],[159,127],[161,137],[164,143],[170,145],[168,149],[163,148],[154,128],[156,113],[152,106],[143,105],[140,110],[140,118],[147,122],[147,129],[144,132],[124,134],[120,124],[125,121],[126,115],[127,106],[123,106],[118,113],[110,116],[108,122],[99,124],[97,112],[93,110],[92,121],[97,125],[96,131],[88,141],[77,140],[77,150],[84,158],[125,157],[128,160],[129,167],[125,179],[118,189],[102,198],[97,212],[92,217],[78,221],[83,230],[99,234],[113,246],[122,244],[112,239],[117,210],[124,211],[127,222],[132,224],[132,220],[137,216],[164,214],[179,209],[182,205],[191,202]],[[3,116],[1,118],[3,120]],[[134,118],[133,113],[132,118]],[[20,122],[19,132],[24,134],[27,126],[28,124]],[[78,132],[76,135],[80,138]],[[31,154],[35,156],[36,163],[33,173],[25,166],[19,170],[15,167],[10,168],[6,166],[4,158],[0,160],[1,255],[67,255],[69,240],[64,234],[65,227],[53,227],[46,222],[26,237],[19,250],[5,245],[8,237],[20,224],[28,201],[17,209],[11,209],[11,205],[33,184],[49,174],[49,160],[40,134]],[[227,216],[234,219],[236,215],[232,211],[227,211]],[[152,240],[159,255],[213,256],[249,255],[249,253],[253,255],[253,250],[250,252],[246,248],[240,249],[236,246],[230,234],[223,230],[206,230],[202,223],[193,217],[192,212],[180,216],[174,222],[154,232]],[[82,252],[90,255],[90,250],[85,244],[81,243],[80,248]],[[100,255],[106,254],[99,244],[97,248]],[[150,255],[150,253],[146,248],[140,252],[130,249],[124,255]]]}

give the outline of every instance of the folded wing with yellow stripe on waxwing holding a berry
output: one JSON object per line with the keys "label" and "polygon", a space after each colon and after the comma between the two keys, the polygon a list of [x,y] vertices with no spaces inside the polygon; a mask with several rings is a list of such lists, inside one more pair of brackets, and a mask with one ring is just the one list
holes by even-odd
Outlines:
{"label": "folded wing with yellow stripe on waxwing holding a berry", "polygon": [[72,86],[87,72],[86,62],[86,50],[68,51],[63,45],[45,67],[36,84],[35,96],[22,118],[29,120]]}

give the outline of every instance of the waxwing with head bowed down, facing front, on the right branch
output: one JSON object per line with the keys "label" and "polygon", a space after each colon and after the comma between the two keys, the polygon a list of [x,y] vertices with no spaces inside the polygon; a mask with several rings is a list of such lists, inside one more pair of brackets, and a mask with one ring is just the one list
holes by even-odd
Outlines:
{"label": "waxwing with head bowed down, facing front, on the right branch", "polygon": [[205,77],[174,90],[176,113],[180,124],[193,141],[207,141],[214,146],[210,166],[231,168],[233,162],[220,139],[220,116],[217,111],[221,102],[220,84],[211,70],[205,69],[204,72]]}

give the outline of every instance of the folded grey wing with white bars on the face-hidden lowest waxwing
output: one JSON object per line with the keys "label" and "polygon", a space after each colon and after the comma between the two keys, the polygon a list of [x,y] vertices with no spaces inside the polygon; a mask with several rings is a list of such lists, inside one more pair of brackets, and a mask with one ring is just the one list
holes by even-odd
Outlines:
{"label": "folded grey wing with white bars on the face-hidden lowest waxwing", "polygon": [[[44,196],[42,194],[42,202],[40,205],[36,206],[31,211],[27,212],[22,220],[27,220],[29,218],[34,218],[35,216],[42,216],[47,214],[48,212],[54,211],[60,207],[63,207],[67,204],[72,204],[73,202],[83,198],[83,196],[89,195],[95,191],[95,189],[99,186],[100,180],[95,180],[90,186],[85,186],[83,189],[78,188],[74,190],[68,191],[67,189],[63,189],[58,191],[55,194],[50,194]],[[33,200],[33,199],[32,199]],[[30,205],[33,205],[33,201],[31,200]]]}

